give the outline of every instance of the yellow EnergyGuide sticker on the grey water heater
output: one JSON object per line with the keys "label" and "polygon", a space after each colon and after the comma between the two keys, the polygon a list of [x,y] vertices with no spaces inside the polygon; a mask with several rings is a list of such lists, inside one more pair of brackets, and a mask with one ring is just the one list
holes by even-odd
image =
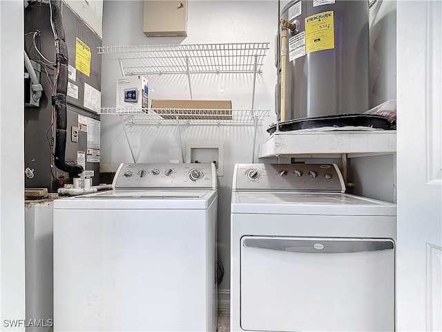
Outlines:
{"label": "yellow EnergyGuide sticker on the grey water heater", "polygon": [[305,53],[334,48],[333,11],[318,12],[305,18]]}

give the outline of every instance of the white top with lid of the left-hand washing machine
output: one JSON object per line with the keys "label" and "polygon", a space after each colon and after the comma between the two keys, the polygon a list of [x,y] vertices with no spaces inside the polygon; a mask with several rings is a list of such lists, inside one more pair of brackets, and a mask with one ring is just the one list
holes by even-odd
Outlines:
{"label": "white top with lid of the left-hand washing machine", "polygon": [[207,210],[216,199],[218,190],[108,190],[56,199],[54,209]]}

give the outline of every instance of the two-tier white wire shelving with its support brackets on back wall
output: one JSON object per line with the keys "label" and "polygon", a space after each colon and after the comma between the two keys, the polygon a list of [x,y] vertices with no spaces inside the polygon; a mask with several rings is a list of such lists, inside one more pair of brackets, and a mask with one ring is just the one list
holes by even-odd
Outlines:
{"label": "two-tier white wire shelving with its support brackets on back wall", "polygon": [[[179,44],[141,46],[99,46],[98,54],[107,55],[119,63],[122,75],[187,75],[190,99],[193,99],[191,75],[239,74],[253,75],[251,109],[118,109],[103,107],[100,114],[119,116],[126,139],[128,124],[252,124],[253,152],[255,154],[258,124],[269,116],[269,110],[254,109],[256,76],[262,73],[269,42],[236,44]],[[129,144],[133,160],[135,156]]]}

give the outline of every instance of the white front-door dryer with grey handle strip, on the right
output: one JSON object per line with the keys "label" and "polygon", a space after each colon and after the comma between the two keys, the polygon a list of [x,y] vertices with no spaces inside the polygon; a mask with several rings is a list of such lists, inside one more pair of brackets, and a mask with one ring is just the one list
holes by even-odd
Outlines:
{"label": "white front-door dryer with grey handle strip, on the right", "polygon": [[231,331],[394,331],[395,239],[334,164],[236,165]]}

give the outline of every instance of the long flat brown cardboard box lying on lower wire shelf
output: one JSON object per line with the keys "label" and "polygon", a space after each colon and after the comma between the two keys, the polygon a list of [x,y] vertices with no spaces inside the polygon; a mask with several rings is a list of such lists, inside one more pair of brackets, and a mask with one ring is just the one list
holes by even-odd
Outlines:
{"label": "long flat brown cardboard box lying on lower wire shelf", "polygon": [[[153,99],[152,108],[164,119],[180,120],[231,120],[231,100],[166,100]],[[164,110],[162,110],[164,109]],[[171,115],[171,111],[176,109]],[[216,110],[216,111],[211,111]]]}

